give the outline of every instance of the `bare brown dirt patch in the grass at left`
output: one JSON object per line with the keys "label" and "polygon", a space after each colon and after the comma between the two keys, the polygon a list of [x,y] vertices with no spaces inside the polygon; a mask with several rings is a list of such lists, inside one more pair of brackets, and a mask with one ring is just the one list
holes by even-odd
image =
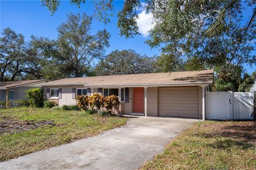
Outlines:
{"label": "bare brown dirt patch in the grass at left", "polygon": [[53,121],[40,121],[40,122],[34,122],[34,121],[10,121],[10,120],[4,120],[0,122],[0,135],[4,133],[20,133],[23,131],[29,131],[32,129],[37,129],[42,126],[56,126]]}

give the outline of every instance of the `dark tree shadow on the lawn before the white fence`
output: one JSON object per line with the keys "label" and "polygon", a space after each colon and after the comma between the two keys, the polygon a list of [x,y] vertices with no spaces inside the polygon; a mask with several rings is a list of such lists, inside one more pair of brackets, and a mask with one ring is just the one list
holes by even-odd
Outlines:
{"label": "dark tree shadow on the lawn before the white fence", "polygon": [[207,144],[207,146],[218,149],[228,149],[235,146],[242,149],[255,147],[256,122],[217,123],[213,129],[214,131],[207,133],[205,138],[214,138],[215,141]]}

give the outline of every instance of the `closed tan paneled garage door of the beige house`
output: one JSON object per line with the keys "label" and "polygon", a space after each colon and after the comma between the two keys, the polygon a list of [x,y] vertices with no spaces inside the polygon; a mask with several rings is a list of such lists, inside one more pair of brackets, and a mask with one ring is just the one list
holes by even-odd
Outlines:
{"label": "closed tan paneled garage door of the beige house", "polygon": [[158,116],[198,118],[198,87],[159,87]]}

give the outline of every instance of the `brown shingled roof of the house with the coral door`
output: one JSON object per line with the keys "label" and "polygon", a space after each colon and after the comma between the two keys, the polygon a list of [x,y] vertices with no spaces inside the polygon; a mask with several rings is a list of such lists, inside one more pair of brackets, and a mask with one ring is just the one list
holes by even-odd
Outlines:
{"label": "brown shingled roof of the house with the coral door", "polygon": [[213,70],[184,71],[170,73],[147,73],[106,75],[99,77],[69,78],[50,81],[37,86],[70,86],[85,85],[87,87],[112,87],[112,86],[157,86],[164,84],[199,84],[213,82]]}

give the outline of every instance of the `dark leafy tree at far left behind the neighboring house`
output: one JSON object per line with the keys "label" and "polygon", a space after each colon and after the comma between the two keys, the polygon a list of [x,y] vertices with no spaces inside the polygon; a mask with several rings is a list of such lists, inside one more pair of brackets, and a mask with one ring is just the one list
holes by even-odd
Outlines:
{"label": "dark leafy tree at far left behind the neighboring house", "polygon": [[5,28],[0,37],[0,81],[13,81],[26,75],[40,78],[40,59],[35,55],[31,44],[24,41],[24,36],[10,28]]}

